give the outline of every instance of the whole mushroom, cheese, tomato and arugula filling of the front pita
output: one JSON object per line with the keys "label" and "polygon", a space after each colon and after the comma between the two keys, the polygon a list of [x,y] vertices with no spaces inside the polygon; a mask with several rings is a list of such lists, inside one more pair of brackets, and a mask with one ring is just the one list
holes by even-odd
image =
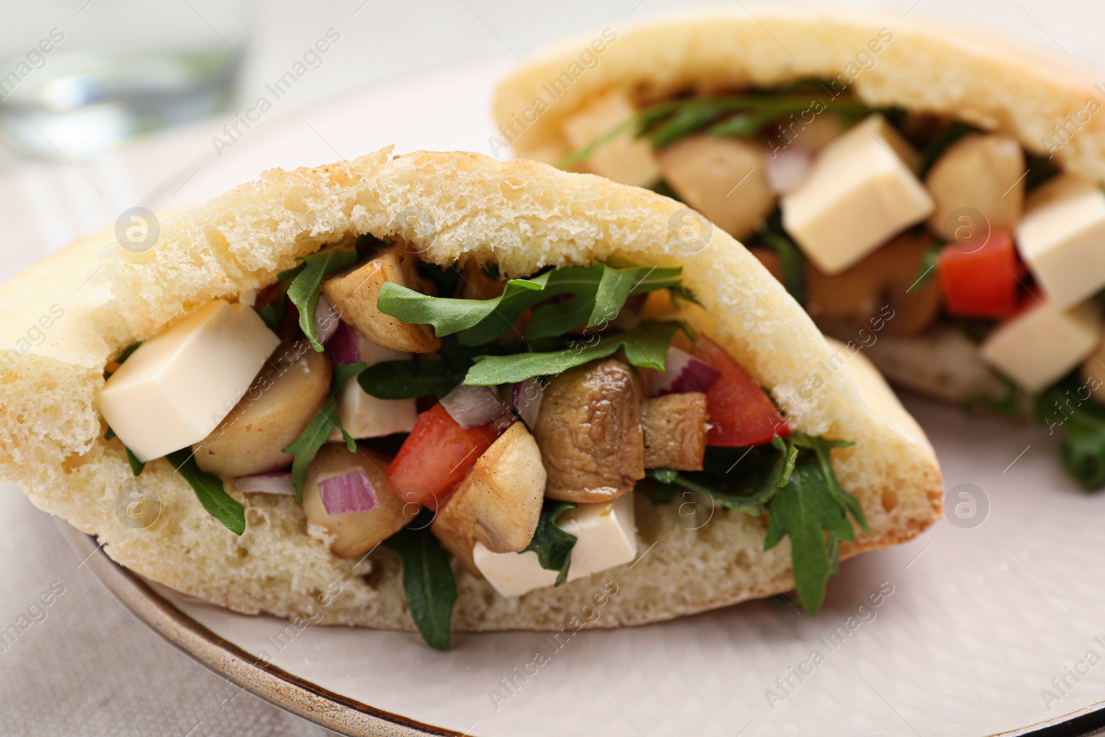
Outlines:
{"label": "whole mushroom, cheese, tomato and arugula filling of the front pita", "polygon": [[852,520],[867,529],[830,462],[851,443],[792,431],[733,356],[664,319],[694,301],[680,269],[504,281],[370,236],[302,261],[110,364],[107,436],[136,475],[166,457],[234,533],[224,484],[294,496],[338,557],[394,549],[434,646],[456,597],[446,551],[507,597],[560,586],[645,552],[634,498],[767,513],[765,548],[790,537],[811,614]]}

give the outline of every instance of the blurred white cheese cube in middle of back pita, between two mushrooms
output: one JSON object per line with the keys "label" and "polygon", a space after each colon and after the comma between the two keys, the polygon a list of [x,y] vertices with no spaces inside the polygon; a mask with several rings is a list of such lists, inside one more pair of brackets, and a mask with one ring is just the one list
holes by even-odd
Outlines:
{"label": "blurred white cheese cube in middle of back pita, between two mushrooms", "polygon": [[829,144],[782,198],[782,227],[818,269],[842,272],[933,212],[916,161],[908,141],[872,115]]}

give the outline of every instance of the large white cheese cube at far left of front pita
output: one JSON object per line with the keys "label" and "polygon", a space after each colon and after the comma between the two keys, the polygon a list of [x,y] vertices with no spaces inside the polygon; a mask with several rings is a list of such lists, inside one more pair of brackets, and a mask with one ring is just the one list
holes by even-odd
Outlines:
{"label": "large white cheese cube at far left of front pita", "polygon": [[278,344],[252,307],[215,299],[139,346],[99,411],[139,461],[161,457],[207,438]]}

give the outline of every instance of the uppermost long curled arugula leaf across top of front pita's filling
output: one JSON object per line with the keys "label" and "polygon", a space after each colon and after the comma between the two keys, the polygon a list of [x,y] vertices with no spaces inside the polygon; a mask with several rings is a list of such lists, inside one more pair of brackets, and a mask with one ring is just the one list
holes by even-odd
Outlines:
{"label": "uppermost long curled arugula leaf across top of front pita's filling", "polygon": [[438,336],[456,333],[461,345],[478,346],[509,333],[522,313],[537,303],[575,295],[567,303],[550,303],[534,310],[525,335],[526,340],[534,340],[564,335],[583,323],[598,324],[607,315],[610,317],[606,319],[612,319],[630,295],[677,285],[681,275],[682,269],[613,269],[601,263],[567,266],[533,278],[513,278],[503,294],[492,299],[431,297],[389,282],[380,289],[377,306],[404,323],[432,325]]}

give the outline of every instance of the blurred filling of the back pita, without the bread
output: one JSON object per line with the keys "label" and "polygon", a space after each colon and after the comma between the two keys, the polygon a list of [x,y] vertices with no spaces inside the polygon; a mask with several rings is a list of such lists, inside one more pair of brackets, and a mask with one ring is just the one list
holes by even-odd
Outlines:
{"label": "blurred filling of the back pita, without the bread", "polygon": [[[1070,138],[1056,131],[1052,154]],[[872,108],[834,82],[641,103],[613,92],[562,133],[580,148],[559,166],[686,202],[892,380],[969,411],[1032,413],[1065,433],[1084,486],[1105,485],[1099,182],[1009,135]]]}

